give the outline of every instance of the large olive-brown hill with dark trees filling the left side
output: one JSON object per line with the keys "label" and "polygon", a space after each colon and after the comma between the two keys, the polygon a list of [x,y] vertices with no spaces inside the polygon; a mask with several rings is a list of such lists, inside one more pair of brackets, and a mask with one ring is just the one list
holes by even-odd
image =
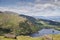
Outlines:
{"label": "large olive-brown hill with dark trees filling the left side", "polygon": [[32,20],[19,16],[20,14],[0,11],[0,35],[13,33],[15,35],[30,34],[38,31],[37,26]]}

